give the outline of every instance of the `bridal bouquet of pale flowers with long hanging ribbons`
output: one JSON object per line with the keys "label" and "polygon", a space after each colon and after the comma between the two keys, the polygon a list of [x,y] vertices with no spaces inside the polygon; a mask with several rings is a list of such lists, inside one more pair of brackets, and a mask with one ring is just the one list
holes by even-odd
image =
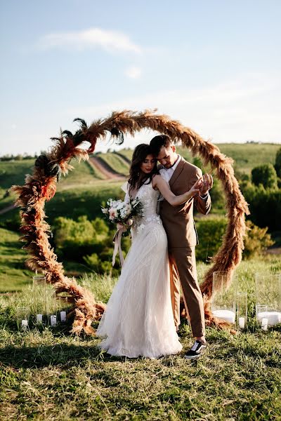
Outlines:
{"label": "bridal bouquet of pale flowers with long hanging ribbons", "polygon": [[117,232],[113,238],[115,248],[112,256],[112,266],[115,265],[115,258],[117,251],[119,251],[120,263],[123,265],[124,258],[121,249],[122,235],[128,235],[131,225],[133,224],[134,216],[143,216],[143,205],[141,201],[136,199],[129,199],[129,201],[108,199],[106,206],[101,208],[105,215],[105,219],[117,225]]}

